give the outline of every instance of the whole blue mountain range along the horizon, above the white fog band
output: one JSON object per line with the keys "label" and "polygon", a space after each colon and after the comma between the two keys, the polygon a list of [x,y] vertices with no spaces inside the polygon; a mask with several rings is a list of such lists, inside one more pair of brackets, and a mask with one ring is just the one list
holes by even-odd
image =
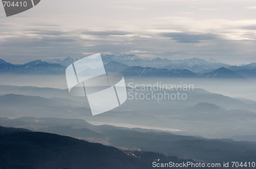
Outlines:
{"label": "whole blue mountain range along the horizon, above the white fog band", "polygon": [[[79,58],[57,59],[49,62],[32,61],[14,65],[0,59],[0,73],[15,74],[64,74],[68,65]],[[203,78],[255,78],[256,63],[230,66],[215,60],[192,58],[185,60],[141,59],[134,54],[102,55],[105,70],[121,72],[135,77],[203,77]]]}

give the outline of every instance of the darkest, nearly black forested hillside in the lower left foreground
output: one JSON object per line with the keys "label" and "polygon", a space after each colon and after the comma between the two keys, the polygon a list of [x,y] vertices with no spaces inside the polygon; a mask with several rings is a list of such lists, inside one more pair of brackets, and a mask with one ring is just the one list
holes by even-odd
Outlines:
{"label": "darkest, nearly black forested hillside in the lower left foreground", "polygon": [[153,168],[152,162],[196,161],[117,148],[45,132],[0,126],[0,168]]}

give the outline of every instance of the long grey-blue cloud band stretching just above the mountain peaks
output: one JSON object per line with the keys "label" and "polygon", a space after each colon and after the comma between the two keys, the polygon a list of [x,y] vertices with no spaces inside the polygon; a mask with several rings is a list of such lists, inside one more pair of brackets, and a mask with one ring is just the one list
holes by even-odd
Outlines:
{"label": "long grey-blue cloud band stretching just above the mountain peaks", "polygon": [[[215,58],[218,61],[226,59],[225,62],[229,63],[230,58],[240,57],[242,54],[247,55],[248,60],[253,60],[256,52],[256,49],[252,47],[255,45],[253,41],[247,43],[231,41],[211,34],[166,33],[161,34],[162,38],[159,38],[159,34],[155,36],[151,34],[151,36],[82,38],[81,32],[80,30],[73,32],[30,30],[24,31],[24,35],[32,33],[34,36],[26,37],[18,34],[14,37],[4,37],[1,39],[3,43],[0,41],[0,58],[12,63],[25,63],[37,59],[79,58],[83,57],[83,53],[100,52],[134,53],[147,58]],[[107,32],[104,34],[101,32],[101,35],[112,34]],[[98,35],[92,36],[98,37]],[[169,40],[169,38],[173,40]],[[204,44],[199,45],[202,41]],[[14,48],[15,50],[13,50]],[[143,52],[141,53],[141,51]]]}

